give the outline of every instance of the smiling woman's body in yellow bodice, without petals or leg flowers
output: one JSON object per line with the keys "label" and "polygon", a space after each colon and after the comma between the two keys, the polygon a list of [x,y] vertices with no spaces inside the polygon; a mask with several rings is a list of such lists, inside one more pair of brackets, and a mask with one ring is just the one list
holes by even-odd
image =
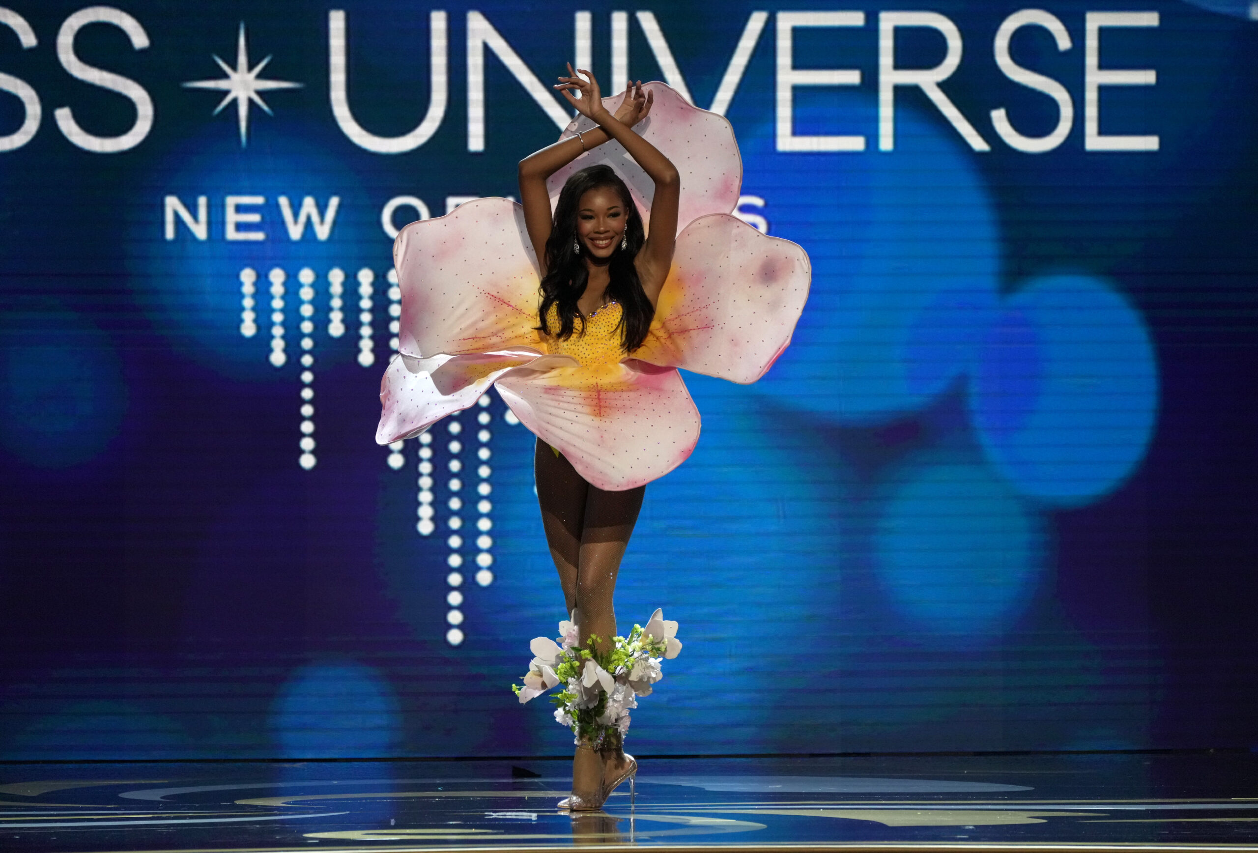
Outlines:
{"label": "smiling woman's body in yellow bodice, without petals or leg flowers", "polygon": [[[643,93],[640,81],[629,83],[613,116],[590,72],[582,70],[587,78],[582,79],[569,65],[567,73],[555,88],[598,127],[520,162],[525,224],[541,263],[538,331],[551,352],[572,355],[582,365],[615,364],[642,346],[655,315],[673,262],[681,176],[668,157],[629,130],[650,113],[654,102],[653,94]],[[609,140],[624,146],[654,184],[649,238],[644,238],[629,187],[606,165],[587,166],[569,177],[551,219],[546,180]],[[591,486],[541,439],[533,472],[546,541],[577,637],[589,638],[608,654],[616,634],[611,603],[616,574],[647,487],[606,491]],[[567,808],[601,806],[637,771],[637,762],[620,749],[621,739],[606,740],[600,750],[589,742],[577,745]]]}

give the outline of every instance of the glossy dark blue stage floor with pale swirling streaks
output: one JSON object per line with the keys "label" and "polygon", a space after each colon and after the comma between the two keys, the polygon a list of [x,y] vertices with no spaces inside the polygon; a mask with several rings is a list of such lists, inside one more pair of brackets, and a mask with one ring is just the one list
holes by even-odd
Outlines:
{"label": "glossy dark blue stage floor with pale swirling streaks", "polygon": [[595,814],[566,762],[0,765],[0,849],[1258,849],[1258,755],[642,760]]}

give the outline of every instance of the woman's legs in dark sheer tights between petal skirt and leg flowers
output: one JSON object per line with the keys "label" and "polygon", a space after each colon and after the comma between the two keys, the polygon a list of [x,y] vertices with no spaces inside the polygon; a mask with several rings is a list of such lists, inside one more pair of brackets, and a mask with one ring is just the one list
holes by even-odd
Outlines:
{"label": "woman's legs in dark sheer tights between petal skirt and leg flowers", "polygon": [[616,574],[647,487],[605,492],[590,486],[572,463],[542,440],[533,454],[533,473],[546,542],[567,610],[576,611],[581,642],[596,634],[599,649],[608,650],[616,633],[611,603]]}

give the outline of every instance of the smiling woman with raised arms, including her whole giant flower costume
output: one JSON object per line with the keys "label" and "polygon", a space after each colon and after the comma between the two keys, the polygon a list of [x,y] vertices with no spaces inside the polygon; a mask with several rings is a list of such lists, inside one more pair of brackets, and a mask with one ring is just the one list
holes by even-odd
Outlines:
{"label": "smiling woman with raised arms, including her whole giant flower costume", "polygon": [[629,711],[681,650],[660,610],[616,635],[613,606],[645,484],[698,442],[677,369],[756,381],[790,342],[810,269],[798,245],[731,215],[742,164],[723,117],[662,83],[604,102],[590,72],[567,70],[555,88],[579,114],[521,161],[522,205],[479,199],[398,235],[399,357],[376,440],[418,435],[489,385],[537,435],[571,620],[559,642],[532,640],[516,693],[561,688],[555,718],[576,754],[560,808],[584,811],[632,784]]}

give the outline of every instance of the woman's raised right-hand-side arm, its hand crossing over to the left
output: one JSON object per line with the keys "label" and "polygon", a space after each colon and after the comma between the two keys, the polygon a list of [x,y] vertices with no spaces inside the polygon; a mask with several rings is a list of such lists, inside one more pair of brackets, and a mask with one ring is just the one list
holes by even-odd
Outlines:
{"label": "woman's raised right-hand-side arm, its hand crossing over to the left", "polygon": [[[585,68],[574,73],[572,65],[567,67],[567,72],[569,77],[561,77],[555,88],[567,98],[567,102],[577,112],[593,118],[600,130],[623,145],[625,151],[655,182],[655,196],[650,201],[650,229],[637,259],[642,286],[654,304],[660,288],[664,287],[668,268],[673,263],[673,243],[677,240],[677,205],[682,189],[681,176],[677,167],[659,152],[659,148],[630,131],[624,122],[606,111],[600,97],[599,82],[594,74]],[[572,94],[574,91],[580,92],[581,97],[576,98]],[[638,92],[642,92],[640,83]],[[648,93],[648,109],[652,99]],[[639,118],[642,117],[639,116]]]}

